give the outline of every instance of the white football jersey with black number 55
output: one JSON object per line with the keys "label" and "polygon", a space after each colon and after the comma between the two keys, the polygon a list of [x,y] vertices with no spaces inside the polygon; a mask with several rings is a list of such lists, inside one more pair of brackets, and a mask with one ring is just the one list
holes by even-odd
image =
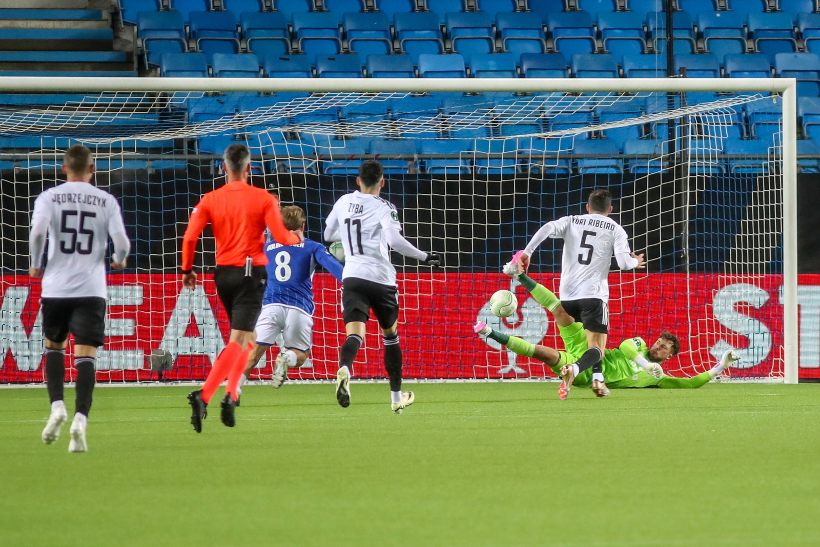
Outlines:
{"label": "white football jersey with black number 55", "polygon": [[86,182],[65,182],[34,201],[31,222],[48,221],[45,298],[106,298],[105,255],[110,234],[125,234],[120,204]]}

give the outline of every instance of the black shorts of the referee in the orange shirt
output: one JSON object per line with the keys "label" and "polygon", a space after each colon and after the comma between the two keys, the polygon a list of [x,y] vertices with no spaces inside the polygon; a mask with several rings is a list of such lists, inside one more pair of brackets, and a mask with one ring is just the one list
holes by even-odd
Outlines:
{"label": "black shorts of the referee in the orange shirt", "polygon": [[225,312],[228,312],[230,328],[253,332],[265,295],[265,267],[254,266],[251,275],[245,276],[244,267],[217,266],[213,281],[216,283],[216,294],[219,294]]}

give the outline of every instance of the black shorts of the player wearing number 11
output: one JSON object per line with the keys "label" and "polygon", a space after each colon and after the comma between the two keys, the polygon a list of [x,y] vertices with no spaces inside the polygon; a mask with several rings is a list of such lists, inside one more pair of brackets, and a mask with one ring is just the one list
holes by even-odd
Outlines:
{"label": "black shorts of the player wearing number 11", "polygon": [[399,319],[399,289],[358,277],[345,278],[342,281],[344,324],[353,321],[367,322],[371,309],[381,328],[389,329],[394,326]]}

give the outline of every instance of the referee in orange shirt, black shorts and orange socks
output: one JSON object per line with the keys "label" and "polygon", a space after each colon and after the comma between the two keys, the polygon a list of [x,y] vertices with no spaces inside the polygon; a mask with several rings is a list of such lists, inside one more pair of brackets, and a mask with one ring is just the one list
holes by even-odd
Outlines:
{"label": "referee in orange shirt, black shorts and orange socks", "polygon": [[301,239],[282,223],[279,201],[267,190],[248,185],[251,153],[244,144],[225,149],[225,175],[229,182],[205,194],[194,207],[188,229],[182,238],[182,285],[194,289],[194,252],[199,235],[211,223],[216,239],[216,294],[230,319],[230,341],[207,375],[202,390],[188,394],[191,425],[202,432],[207,403],[216,388],[227,378],[228,387],[222,399],[222,423],[235,425],[234,408],[239,378],[253,347],[253,328],[262,309],[265,292],[267,257],[263,251],[265,226],[273,239],[283,245],[298,244]]}

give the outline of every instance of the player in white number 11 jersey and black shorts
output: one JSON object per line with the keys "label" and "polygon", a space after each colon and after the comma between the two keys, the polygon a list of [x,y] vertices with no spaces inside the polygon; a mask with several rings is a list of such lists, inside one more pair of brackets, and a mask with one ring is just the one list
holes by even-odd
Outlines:
{"label": "player in white number 11 jersey and black shorts", "polygon": [[385,342],[385,369],[390,381],[390,408],[401,413],[414,400],[412,391],[402,392],[402,350],[399,346],[399,290],[390,249],[405,257],[417,258],[428,266],[438,266],[441,258],[415,248],[402,235],[396,207],[380,197],[385,186],[379,162],[367,161],[359,167],[359,189],[339,198],[327,217],[325,239],[341,241],[344,248],[342,274],[342,315],[347,340],[339,351],[336,372],[336,400],[350,405],[350,376],[353,361],[364,340],[370,310],[379,321]]}

